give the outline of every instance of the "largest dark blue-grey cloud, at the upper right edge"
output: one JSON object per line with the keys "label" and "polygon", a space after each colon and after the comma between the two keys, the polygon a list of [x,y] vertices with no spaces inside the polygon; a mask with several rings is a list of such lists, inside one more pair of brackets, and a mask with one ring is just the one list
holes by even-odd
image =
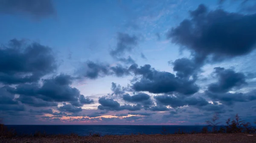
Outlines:
{"label": "largest dark blue-grey cloud, at the upper right edge", "polygon": [[218,62],[255,49],[256,14],[229,13],[222,9],[209,11],[202,4],[189,13],[191,19],[180,22],[167,36],[173,43],[190,50],[196,63],[206,59]]}

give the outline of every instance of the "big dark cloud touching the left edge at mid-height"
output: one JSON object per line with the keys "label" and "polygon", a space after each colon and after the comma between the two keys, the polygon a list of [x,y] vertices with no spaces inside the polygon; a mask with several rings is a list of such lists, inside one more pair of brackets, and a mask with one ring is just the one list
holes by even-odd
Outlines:
{"label": "big dark cloud touching the left edge at mid-height", "polygon": [[12,39],[7,47],[0,47],[0,59],[3,84],[36,82],[56,69],[52,50],[36,42],[26,44]]}

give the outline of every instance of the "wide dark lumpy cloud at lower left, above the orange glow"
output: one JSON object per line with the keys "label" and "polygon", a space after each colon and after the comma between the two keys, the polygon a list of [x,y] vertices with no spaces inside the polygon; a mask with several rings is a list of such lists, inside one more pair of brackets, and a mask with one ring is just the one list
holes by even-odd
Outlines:
{"label": "wide dark lumpy cloud at lower left, above the orange glow", "polygon": [[73,106],[81,107],[91,104],[93,100],[80,95],[80,91],[70,87],[73,77],[60,74],[49,79],[44,79],[39,84],[19,84],[10,92],[20,95],[17,101],[33,107],[53,107],[57,102],[70,102]]}

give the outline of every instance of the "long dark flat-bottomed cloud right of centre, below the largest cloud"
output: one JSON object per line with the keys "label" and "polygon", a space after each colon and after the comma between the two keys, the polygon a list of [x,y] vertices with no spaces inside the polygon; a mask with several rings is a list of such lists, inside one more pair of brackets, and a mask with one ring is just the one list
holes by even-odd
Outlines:
{"label": "long dark flat-bottomed cloud right of centre, below the largest cloud", "polygon": [[194,83],[195,80],[180,79],[169,72],[160,72],[151,68],[149,64],[138,68],[137,64],[131,65],[129,70],[135,75],[142,75],[139,81],[136,81],[132,88],[135,91],[148,91],[149,93],[169,93],[177,92],[185,95],[191,95],[199,90]]}

